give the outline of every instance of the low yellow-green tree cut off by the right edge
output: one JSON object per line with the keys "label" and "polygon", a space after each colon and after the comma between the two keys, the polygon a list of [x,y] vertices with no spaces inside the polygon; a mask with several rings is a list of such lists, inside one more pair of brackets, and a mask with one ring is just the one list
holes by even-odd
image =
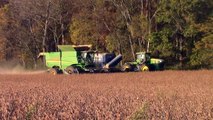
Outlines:
{"label": "low yellow-green tree cut off by the right edge", "polygon": [[193,68],[213,68],[213,18],[200,24],[199,30],[203,33],[201,40],[195,43],[193,54],[191,55],[191,65]]}

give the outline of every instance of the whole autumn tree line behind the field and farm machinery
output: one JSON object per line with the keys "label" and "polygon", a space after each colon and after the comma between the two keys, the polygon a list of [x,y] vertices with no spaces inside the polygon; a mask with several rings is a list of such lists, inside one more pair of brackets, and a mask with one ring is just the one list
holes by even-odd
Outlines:
{"label": "whole autumn tree line behind the field and farm machinery", "polygon": [[39,52],[92,44],[165,59],[170,69],[213,68],[212,0],[3,0],[0,59],[36,68]]}

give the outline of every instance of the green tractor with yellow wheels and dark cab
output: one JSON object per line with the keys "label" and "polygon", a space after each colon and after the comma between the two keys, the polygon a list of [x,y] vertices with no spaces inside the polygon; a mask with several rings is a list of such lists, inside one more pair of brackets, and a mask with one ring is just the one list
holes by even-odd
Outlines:
{"label": "green tractor with yellow wheels and dark cab", "polygon": [[164,69],[164,60],[151,58],[147,52],[136,53],[136,61],[127,62],[122,66],[122,71],[156,71]]}

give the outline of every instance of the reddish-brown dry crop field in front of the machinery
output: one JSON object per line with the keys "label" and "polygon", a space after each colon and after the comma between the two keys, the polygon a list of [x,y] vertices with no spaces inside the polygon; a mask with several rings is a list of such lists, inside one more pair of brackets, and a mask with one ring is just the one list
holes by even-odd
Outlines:
{"label": "reddish-brown dry crop field in front of the machinery", "polygon": [[0,119],[213,119],[213,71],[0,75]]}

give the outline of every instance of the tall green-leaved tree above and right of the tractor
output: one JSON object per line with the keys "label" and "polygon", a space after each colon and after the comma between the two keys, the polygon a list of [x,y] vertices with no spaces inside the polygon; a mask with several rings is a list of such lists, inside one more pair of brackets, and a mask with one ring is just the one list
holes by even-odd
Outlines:
{"label": "tall green-leaved tree above and right of the tractor", "polygon": [[170,59],[173,65],[178,63],[181,68],[187,66],[194,43],[202,37],[196,24],[204,22],[209,15],[206,11],[211,11],[210,3],[199,0],[161,0],[156,17],[158,31],[153,34],[152,49],[163,51],[163,56]]}

